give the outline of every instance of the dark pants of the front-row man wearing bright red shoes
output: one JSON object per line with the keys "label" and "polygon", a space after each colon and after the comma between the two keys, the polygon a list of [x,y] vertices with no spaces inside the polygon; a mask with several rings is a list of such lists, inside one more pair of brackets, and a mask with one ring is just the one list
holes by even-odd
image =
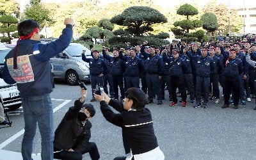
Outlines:
{"label": "dark pants of the front-row man wearing bright red shoes", "polygon": [[177,88],[179,88],[181,100],[182,100],[182,102],[186,102],[187,94],[186,94],[186,89],[185,89],[185,85],[184,85],[184,81],[183,81],[182,77],[172,77],[171,76],[170,83],[171,83],[171,90],[172,90],[172,101],[175,103],[178,102],[176,90],[177,90]]}

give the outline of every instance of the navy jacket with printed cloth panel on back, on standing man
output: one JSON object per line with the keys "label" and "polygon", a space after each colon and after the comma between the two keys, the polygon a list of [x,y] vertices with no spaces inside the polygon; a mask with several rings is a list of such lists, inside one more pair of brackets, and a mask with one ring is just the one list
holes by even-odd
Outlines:
{"label": "navy jacket with printed cloth panel on back, on standing man", "polygon": [[13,68],[15,48],[5,57],[2,77],[8,84],[17,83],[20,97],[44,95],[52,92],[50,58],[68,47],[72,39],[72,25],[66,25],[62,35],[48,44],[36,40],[19,40],[17,43],[17,65]]}

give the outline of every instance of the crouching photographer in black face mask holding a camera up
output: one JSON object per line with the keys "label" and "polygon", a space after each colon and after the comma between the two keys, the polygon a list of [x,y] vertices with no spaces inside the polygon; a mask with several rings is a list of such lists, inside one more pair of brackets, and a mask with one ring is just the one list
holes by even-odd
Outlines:
{"label": "crouching photographer in black face mask holding a camera up", "polygon": [[84,104],[86,95],[84,86],[81,88],[81,97],[68,109],[55,131],[55,159],[81,160],[87,152],[92,160],[100,158],[97,145],[89,142],[92,127],[89,120],[95,115],[95,109],[92,104]]}

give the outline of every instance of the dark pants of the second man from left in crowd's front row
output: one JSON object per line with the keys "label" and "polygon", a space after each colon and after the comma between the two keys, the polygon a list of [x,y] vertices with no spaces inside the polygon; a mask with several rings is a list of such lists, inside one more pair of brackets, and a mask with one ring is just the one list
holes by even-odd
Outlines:
{"label": "dark pants of the second man from left in crowd's front row", "polygon": [[114,86],[114,92],[115,92],[115,99],[118,99],[118,86],[120,89],[121,99],[124,99],[124,79],[123,75],[118,76],[112,76],[113,77],[113,86]]}

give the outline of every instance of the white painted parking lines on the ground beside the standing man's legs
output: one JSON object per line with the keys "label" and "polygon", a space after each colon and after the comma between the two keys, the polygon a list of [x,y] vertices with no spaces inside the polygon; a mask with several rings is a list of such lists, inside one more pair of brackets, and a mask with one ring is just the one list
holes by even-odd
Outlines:
{"label": "white painted parking lines on the ground beside the standing man's legs", "polygon": [[[55,113],[56,111],[58,111],[59,109],[63,108],[63,106],[65,106],[66,104],[68,104],[68,102],[70,102],[71,100],[65,100],[65,99],[52,99],[52,100],[60,100],[60,101],[64,101],[63,103],[61,103],[59,106],[57,106],[56,108],[53,109],[53,113]],[[6,145],[12,143],[12,141],[16,140],[17,138],[19,138],[19,136],[21,136],[22,134],[24,134],[24,129],[22,129],[21,131],[17,132],[16,134],[14,134],[12,137],[8,138],[6,141],[4,141],[3,143],[0,144],[0,160],[4,160],[3,159],[3,155],[4,157],[8,157],[8,155],[6,155],[6,152],[4,152],[4,150],[1,150],[2,148],[6,147]],[[5,153],[5,154],[3,154]],[[20,155],[20,159],[22,159],[21,154]],[[8,158],[9,159],[9,158]],[[17,157],[18,159],[18,157]],[[6,159],[7,160],[7,159]]]}

